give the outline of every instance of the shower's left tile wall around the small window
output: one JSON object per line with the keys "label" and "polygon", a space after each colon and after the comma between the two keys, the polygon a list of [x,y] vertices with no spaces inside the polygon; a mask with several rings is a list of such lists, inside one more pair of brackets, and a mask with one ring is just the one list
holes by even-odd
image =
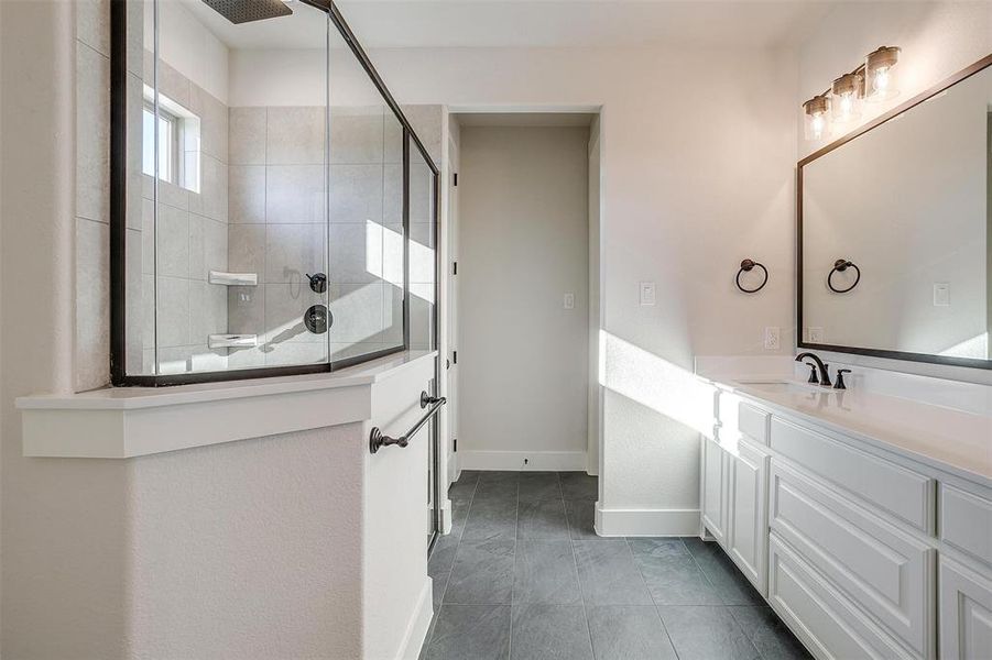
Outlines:
{"label": "shower's left tile wall around the small window", "polygon": [[154,182],[142,175],[142,371],[154,373],[156,339],[160,373],[224,370],[227,350],[207,340],[228,331],[227,287],[208,282],[210,271],[228,270],[228,108],[161,61],[159,92],[199,117],[199,140],[183,146],[183,157],[198,162],[200,180],[198,193],[159,182],[155,227]]}

